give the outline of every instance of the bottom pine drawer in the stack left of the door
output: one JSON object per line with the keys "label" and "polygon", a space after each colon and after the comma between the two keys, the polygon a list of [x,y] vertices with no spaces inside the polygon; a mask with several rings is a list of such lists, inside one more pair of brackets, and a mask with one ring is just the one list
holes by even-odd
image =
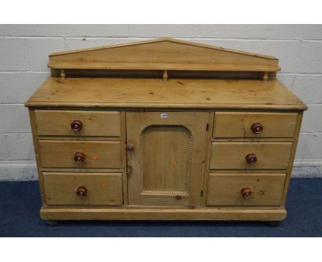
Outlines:
{"label": "bottom pine drawer in the stack left of the door", "polygon": [[122,205],[121,173],[44,172],[47,204]]}

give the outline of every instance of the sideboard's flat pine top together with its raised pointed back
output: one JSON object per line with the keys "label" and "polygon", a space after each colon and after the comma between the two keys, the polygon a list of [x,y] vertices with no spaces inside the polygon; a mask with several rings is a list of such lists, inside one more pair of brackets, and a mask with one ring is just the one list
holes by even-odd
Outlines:
{"label": "sideboard's flat pine top together with its raised pointed back", "polygon": [[258,53],[160,38],[56,52],[49,58],[52,77],[26,106],[307,109],[276,80],[279,60]]}

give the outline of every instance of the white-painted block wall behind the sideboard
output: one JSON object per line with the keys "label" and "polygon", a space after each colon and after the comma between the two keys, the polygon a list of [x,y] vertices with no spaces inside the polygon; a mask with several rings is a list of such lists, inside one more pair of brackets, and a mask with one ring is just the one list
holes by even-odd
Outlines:
{"label": "white-painted block wall behind the sideboard", "polygon": [[0,180],[36,180],[26,99],[53,51],[173,37],[279,58],[278,79],[308,104],[293,176],[322,176],[322,25],[0,25]]}

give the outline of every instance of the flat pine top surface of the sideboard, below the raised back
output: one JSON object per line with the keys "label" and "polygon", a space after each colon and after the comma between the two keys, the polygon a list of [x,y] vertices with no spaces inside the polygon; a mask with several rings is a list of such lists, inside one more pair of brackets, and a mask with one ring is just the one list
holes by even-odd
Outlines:
{"label": "flat pine top surface of the sideboard, below the raised back", "polygon": [[48,78],[25,106],[306,110],[278,80]]}

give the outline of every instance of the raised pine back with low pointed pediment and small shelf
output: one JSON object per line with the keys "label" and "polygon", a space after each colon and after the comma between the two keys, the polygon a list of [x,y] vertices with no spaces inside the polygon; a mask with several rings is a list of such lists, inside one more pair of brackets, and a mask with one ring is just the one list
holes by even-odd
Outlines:
{"label": "raised pine back with low pointed pediment and small shelf", "polygon": [[271,56],[171,38],[52,53],[48,67],[53,75],[59,70],[62,78],[66,73],[160,75],[161,72],[167,79],[168,75],[180,73],[195,72],[197,76],[206,72],[216,76],[215,72],[231,72],[228,76],[246,73],[267,80],[269,76],[275,78],[280,70],[277,58]]}

